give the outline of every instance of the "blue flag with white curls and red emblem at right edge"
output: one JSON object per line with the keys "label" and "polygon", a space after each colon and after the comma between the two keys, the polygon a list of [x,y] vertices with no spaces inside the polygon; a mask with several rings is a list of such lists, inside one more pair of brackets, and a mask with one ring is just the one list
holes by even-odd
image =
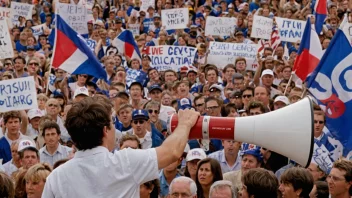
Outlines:
{"label": "blue flag with white curls and red emblem at right edge", "polygon": [[352,150],[352,47],[342,23],[315,71],[307,78],[308,91],[325,111],[326,127],[339,140],[346,156]]}

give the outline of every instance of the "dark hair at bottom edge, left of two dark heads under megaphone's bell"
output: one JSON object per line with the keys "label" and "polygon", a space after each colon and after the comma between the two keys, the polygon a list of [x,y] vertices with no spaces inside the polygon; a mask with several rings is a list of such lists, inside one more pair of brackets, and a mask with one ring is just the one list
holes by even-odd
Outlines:
{"label": "dark hair at bottom edge, left of two dark heads under megaphone's bell", "polygon": [[247,187],[249,197],[277,198],[279,182],[271,171],[263,168],[250,169],[243,174],[242,181]]}

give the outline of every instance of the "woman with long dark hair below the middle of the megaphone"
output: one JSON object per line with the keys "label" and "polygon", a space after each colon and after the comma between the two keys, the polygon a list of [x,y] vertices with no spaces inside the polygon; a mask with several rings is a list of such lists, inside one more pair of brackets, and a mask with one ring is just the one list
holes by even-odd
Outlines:
{"label": "woman with long dark hair below the middle of the megaphone", "polygon": [[197,197],[209,198],[211,185],[222,179],[221,167],[217,160],[205,158],[198,162],[196,174]]}

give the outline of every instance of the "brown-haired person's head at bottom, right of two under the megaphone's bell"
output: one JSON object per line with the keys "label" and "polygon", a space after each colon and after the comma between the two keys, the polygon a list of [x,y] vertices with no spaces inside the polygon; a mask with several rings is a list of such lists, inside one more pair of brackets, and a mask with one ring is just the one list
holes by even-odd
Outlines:
{"label": "brown-haired person's head at bottom, right of two under the megaphone's bell", "polygon": [[285,198],[309,198],[313,189],[313,176],[307,169],[293,167],[280,177],[279,190]]}

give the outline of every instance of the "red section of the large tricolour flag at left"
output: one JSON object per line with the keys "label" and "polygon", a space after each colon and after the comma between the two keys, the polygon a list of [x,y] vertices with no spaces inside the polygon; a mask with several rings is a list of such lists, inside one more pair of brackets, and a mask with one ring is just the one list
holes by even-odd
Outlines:
{"label": "red section of the large tricolour flag at left", "polygon": [[55,54],[53,57],[54,68],[59,68],[77,50],[76,45],[60,30],[56,32]]}

